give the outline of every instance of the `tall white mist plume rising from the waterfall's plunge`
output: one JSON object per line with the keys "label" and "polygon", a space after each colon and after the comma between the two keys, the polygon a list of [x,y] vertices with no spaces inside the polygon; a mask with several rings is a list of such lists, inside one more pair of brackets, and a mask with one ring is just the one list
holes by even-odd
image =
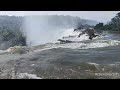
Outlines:
{"label": "tall white mist plume rising from the waterfall's plunge", "polygon": [[27,45],[35,46],[53,42],[63,36],[71,35],[71,28],[75,28],[77,22],[60,17],[34,17],[24,18],[24,34],[27,37]]}

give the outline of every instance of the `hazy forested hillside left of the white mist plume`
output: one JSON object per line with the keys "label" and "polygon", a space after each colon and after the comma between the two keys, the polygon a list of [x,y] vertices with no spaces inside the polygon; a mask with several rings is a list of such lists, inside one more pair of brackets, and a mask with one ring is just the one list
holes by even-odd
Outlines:
{"label": "hazy forested hillside left of the white mist plume", "polygon": [[22,21],[22,17],[0,16],[0,49],[15,45],[26,46],[26,38],[21,32]]}

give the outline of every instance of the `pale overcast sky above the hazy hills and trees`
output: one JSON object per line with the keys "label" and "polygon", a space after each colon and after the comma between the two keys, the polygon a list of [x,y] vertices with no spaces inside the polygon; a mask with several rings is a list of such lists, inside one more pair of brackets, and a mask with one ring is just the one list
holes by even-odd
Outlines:
{"label": "pale overcast sky above the hazy hills and trees", "polygon": [[99,22],[110,21],[120,11],[0,11],[0,15],[71,15]]}

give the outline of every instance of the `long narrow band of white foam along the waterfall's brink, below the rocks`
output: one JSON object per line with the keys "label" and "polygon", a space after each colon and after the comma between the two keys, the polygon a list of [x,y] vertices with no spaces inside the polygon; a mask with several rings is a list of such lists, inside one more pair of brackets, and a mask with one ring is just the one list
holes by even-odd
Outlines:
{"label": "long narrow band of white foam along the waterfall's brink, below the rocks", "polygon": [[120,41],[117,40],[96,40],[90,43],[66,43],[66,44],[47,44],[43,49],[38,51],[44,51],[53,48],[70,48],[70,49],[90,49],[119,45]]}

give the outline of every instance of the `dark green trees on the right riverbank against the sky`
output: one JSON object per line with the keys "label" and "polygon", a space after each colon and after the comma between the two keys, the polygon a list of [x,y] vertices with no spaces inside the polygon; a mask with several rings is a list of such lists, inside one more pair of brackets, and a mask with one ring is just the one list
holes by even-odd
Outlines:
{"label": "dark green trees on the right riverbank against the sky", "polygon": [[97,30],[120,31],[120,12],[108,24],[99,23],[94,28]]}

